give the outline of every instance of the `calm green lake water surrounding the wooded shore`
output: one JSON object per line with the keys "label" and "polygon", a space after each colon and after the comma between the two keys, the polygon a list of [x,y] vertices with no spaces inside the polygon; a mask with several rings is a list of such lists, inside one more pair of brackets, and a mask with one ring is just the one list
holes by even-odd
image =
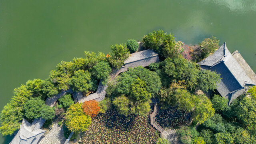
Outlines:
{"label": "calm green lake water surrounding the wooded shore", "polygon": [[255,0],[0,0],[0,110],[15,87],[47,78],[61,60],[107,54],[156,29],[186,44],[217,36],[256,72],[255,26]]}

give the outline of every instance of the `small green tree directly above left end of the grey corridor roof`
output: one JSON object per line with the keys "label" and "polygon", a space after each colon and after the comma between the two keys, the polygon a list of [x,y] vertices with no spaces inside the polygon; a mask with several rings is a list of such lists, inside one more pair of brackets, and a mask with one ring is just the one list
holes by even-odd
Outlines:
{"label": "small green tree directly above left end of the grey corridor roof", "polygon": [[44,97],[52,97],[60,92],[49,79],[42,83],[42,87],[42,93],[44,94]]}

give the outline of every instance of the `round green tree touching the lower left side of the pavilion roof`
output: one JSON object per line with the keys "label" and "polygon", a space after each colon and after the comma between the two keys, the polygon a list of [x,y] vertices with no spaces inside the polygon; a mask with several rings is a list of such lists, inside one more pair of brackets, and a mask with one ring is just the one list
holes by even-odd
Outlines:
{"label": "round green tree touching the lower left side of the pavilion roof", "polygon": [[208,92],[217,88],[217,83],[220,82],[220,74],[210,70],[202,70],[198,78],[198,88]]}

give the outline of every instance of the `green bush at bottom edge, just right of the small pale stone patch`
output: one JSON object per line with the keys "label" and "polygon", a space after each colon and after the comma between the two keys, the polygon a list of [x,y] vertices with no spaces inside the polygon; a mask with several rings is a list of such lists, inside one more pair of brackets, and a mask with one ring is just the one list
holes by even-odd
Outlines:
{"label": "green bush at bottom edge, just right of the small pale stone patch", "polygon": [[193,144],[193,139],[199,136],[199,132],[194,127],[189,126],[180,127],[176,133],[183,144]]}

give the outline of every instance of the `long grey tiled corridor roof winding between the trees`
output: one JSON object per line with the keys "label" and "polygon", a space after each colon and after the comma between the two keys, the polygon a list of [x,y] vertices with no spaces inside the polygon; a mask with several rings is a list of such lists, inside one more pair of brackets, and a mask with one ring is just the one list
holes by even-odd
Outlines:
{"label": "long grey tiled corridor roof winding between the trees", "polygon": [[[158,54],[154,50],[143,50],[140,52],[135,52],[130,54],[130,56],[124,61],[124,66],[120,69],[113,69],[110,74],[110,80],[113,80],[121,72],[125,72],[128,68],[136,68],[138,66],[149,66],[151,63],[159,62]],[[106,96],[106,89],[108,86],[104,86],[100,81],[96,93],[90,94],[88,96],[83,96],[81,92],[76,93],[76,98],[78,102],[85,102],[89,100],[96,100],[98,102],[104,100]]]}

